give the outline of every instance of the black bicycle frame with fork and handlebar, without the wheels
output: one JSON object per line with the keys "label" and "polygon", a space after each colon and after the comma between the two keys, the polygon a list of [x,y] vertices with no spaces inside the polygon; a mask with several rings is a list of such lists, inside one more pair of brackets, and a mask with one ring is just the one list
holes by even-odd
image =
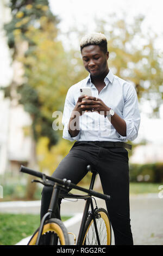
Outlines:
{"label": "black bicycle frame with fork and handlebar, without the wheels", "polygon": [[[82,217],[82,222],[80,224],[80,230],[79,230],[79,234],[78,234],[78,240],[77,240],[77,245],[81,245],[82,241],[83,241],[83,231],[84,231],[84,227],[85,227],[85,223],[87,220],[87,216],[89,214],[89,207],[91,205],[91,214],[92,214],[92,218],[93,218],[93,223],[95,225],[95,231],[96,231],[96,235],[97,235],[97,241],[98,241],[98,245],[100,245],[99,242],[99,236],[98,236],[98,230],[97,230],[97,225],[96,225],[96,216],[95,216],[95,210],[93,208],[93,202],[92,202],[92,196],[96,196],[105,200],[110,199],[110,196],[105,195],[105,194],[101,194],[98,192],[93,191],[93,186],[95,184],[95,178],[96,178],[96,174],[98,172],[96,172],[95,170],[91,170],[92,172],[92,178],[91,178],[91,183],[90,183],[90,188],[89,190],[82,188],[82,187],[78,187],[74,184],[71,183],[71,181],[67,181],[67,180],[60,180],[60,179],[55,179],[52,178],[50,176],[47,176],[45,174],[36,172],[34,170],[31,170],[27,167],[23,167],[21,166],[20,169],[21,172],[24,173],[28,173],[34,176],[37,176],[39,178],[42,178],[43,182],[41,182],[43,185],[50,185],[46,182],[46,179],[54,181],[54,186],[53,186],[53,193],[52,193],[52,197],[51,197],[51,202],[49,204],[49,209],[48,212],[42,217],[41,223],[40,223],[40,228],[39,228],[39,233],[37,236],[37,240],[36,240],[36,245],[39,245],[40,242],[40,237],[42,234],[42,230],[43,230],[43,225],[45,224],[45,221],[49,218],[52,218],[52,214],[56,214],[57,211],[59,211],[58,209],[58,199],[59,198],[75,198],[75,199],[84,199],[86,200],[85,203],[85,208],[84,208],[84,212],[83,212],[83,217]],[[37,180],[34,180],[37,181]],[[40,182],[40,181],[37,181]],[[51,185],[52,186],[52,185]],[[76,188],[80,191],[84,191],[86,193],[88,193],[87,195],[80,195],[80,194],[69,194],[69,193],[61,193],[61,190],[66,187],[68,188]]]}

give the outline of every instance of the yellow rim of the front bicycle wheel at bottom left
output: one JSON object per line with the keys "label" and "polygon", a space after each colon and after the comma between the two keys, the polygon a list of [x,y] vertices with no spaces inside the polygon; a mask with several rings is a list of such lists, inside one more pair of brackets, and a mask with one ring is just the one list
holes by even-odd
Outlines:
{"label": "yellow rim of the front bicycle wheel at bottom left", "polygon": [[[57,223],[47,223],[47,224],[45,224],[43,226],[42,235],[47,233],[48,231],[54,231],[59,237],[60,244],[65,245],[64,234],[62,232],[62,229],[59,227],[59,225]],[[35,245],[38,233],[39,232],[37,231],[37,233],[32,237],[32,240],[29,242],[29,245]]]}

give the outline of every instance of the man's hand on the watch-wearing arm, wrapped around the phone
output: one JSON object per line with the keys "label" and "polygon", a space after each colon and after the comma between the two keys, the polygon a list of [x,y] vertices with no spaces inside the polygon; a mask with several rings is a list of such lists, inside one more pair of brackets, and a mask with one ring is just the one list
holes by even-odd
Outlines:
{"label": "man's hand on the watch-wearing arm, wrapped around the phone", "polygon": [[83,111],[96,111],[102,115],[107,115],[108,111],[110,111],[110,108],[106,106],[105,103],[97,97],[85,96],[85,99],[86,100],[82,100],[80,107],[81,109],[83,109]]}

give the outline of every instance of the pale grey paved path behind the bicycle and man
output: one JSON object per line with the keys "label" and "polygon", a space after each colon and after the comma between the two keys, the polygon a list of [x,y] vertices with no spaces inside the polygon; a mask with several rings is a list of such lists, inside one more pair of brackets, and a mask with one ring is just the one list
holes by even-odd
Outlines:
{"label": "pale grey paved path behind the bicycle and man", "polygon": [[[105,208],[104,200],[97,200],[98,206]],[[65,200],[61,205],[62,215],[74,215],[65,222],[67,230],[78,234],[79,222],[82,218],[84,201],[69,202]],[[0,212],[39,214],[40,201],[36,202],[4,202],[0,203]],[[163,198],[158,194],[147,194],[130,197],[130,218],[134,245],[163,245]],[[18,244],[27,244],[25,239]],[[73,244],[73,235],[70,235]],[[112,239],[114,245],[114,237]]]}

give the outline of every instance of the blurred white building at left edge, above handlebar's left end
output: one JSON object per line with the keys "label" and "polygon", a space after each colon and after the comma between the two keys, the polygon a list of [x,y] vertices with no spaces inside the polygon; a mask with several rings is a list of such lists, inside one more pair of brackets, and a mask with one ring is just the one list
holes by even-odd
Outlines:
{"label": "blurred white building at left edge, above handlebar's left end", "polygon": [[8,99],[0,98],[0,174],[18,172],[20,164],[26,165],[30,157],[30,136],[23,128],[31,124],[22,106],[11,106]]}

